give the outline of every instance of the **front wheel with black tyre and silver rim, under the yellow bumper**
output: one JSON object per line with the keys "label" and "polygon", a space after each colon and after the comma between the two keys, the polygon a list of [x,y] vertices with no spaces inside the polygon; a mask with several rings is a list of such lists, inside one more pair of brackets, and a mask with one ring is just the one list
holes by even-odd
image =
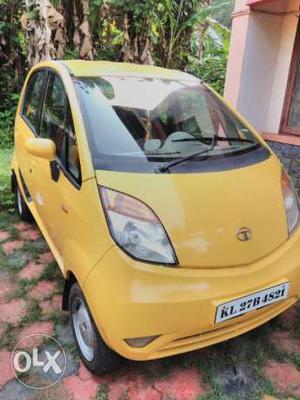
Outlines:
{"label": "front wheel with black tyre and silver rim, under the yellow bumper", "polygon": [[[101,338],[78,283],[74,283],[70,289],[69,310],[76,345],[88,370],[99,376],[118,369],[123,358]],[[82,333],[85,333],[85,338]]]}

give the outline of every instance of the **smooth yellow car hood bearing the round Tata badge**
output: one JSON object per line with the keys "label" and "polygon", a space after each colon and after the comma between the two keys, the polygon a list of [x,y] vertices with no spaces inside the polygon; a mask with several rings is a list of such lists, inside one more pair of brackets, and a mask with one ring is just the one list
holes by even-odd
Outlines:
{"label": "smooth yellow car hood bearing the round Tata badge", "polygon": [[[96,177],[99,185],[132,195],[154,210],[181,267],[249,264],[288,239],[281,166],[274,156],[224,172],[142,174],[101,170],[96,171]],[[250,240],[238,238],[241,228],[251,231]]]}

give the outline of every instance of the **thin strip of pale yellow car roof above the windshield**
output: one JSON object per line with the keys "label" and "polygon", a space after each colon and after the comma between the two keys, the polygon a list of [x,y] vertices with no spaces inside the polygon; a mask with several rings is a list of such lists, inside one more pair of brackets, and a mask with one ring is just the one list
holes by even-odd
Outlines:
{"label": "thin strip of pale yellow car roof above the windshield", "polygon": [[199,81],[198,78],[185,72],[156,67],[152,65],[85,60],[64,60],[53,62],[59,62],[63,64],[67,68],[69,73],[75,77],[128,76],[140,78]]}

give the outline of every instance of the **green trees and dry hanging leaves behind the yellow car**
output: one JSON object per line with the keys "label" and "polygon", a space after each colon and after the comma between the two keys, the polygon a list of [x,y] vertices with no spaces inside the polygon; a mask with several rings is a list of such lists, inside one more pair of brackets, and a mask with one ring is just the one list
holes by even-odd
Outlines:
{"label": "green trees and dry hanging leaves behind the yellow car", "polygon": [[[14,115],[30,68],[31,32],[41,22],[41,3],[0,0],[2,149],[13,144]],[[52,6],[63,20],[60,37],[52,32],[56,50],[63,48],[62,58],[153,62],[191,72],[223,93],[233,0],[53,0]],[[24,15],[27,32],[21,26]],[[89,53],[82,51],[83,43],[91,46]]]}

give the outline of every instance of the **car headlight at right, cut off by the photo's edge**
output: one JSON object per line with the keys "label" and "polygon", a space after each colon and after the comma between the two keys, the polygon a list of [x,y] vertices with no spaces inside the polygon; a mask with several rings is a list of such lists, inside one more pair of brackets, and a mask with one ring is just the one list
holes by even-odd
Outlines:
{"label": "car headlight at right, cut off by the photo's edge", "polygon": [[299,199],[286,172],[281,173],[281,188],[283,193],[283,201],[288,222],[289,234],[291,234],[299,224]]}

